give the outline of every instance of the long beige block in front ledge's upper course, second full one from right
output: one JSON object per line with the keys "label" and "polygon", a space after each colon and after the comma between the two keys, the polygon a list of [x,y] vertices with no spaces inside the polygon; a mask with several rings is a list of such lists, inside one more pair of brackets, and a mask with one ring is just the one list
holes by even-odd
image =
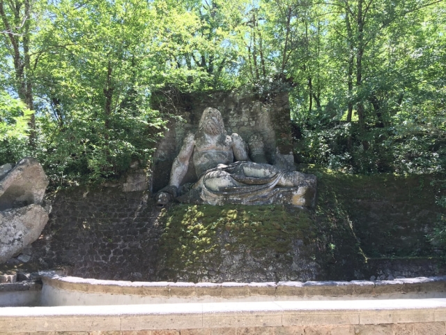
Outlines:
{"label": "long beige block in front ledge's upper course, second full one from right", "polygon": [[294,325],[357,325],[359,323],[359,313],[321,313],[284,311],[282,324],[284,326]]}

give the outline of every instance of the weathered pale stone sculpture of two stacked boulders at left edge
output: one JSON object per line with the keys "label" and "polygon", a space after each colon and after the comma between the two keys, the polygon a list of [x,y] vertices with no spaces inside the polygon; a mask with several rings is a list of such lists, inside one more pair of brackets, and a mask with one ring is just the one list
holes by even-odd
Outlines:
{"label": "weathered pale stone sculpture of two stacked boulders at left edge", "polygon": [[0,264],[36,241],[48,221],[48,179],[34,158],[0,166]]}

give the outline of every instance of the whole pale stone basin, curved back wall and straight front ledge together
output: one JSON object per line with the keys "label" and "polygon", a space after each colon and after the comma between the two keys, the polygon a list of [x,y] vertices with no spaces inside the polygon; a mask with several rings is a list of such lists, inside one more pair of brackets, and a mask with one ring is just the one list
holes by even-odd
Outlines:
{"label": "whole pale stone basin, curved back wall and straight front ledge together", "polygon": [[[148,283],[40,276],[41,285],[17,291],[39,292],[33,307],[10,299],[0,308],[0,334],[446,334],[446,277]],[[4,288],[17,284],[1,284],[3,306],[14,293]]]}

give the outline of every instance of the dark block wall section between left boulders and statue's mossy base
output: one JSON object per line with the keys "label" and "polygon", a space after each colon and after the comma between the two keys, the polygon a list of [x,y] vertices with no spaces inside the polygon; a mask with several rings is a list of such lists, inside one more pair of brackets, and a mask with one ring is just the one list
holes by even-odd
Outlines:
{"label": "dark block wall section between left boulders and statue's mossy base", "polygon": [[155,280],[159,209],[144,191],[72,188],[52,195],[52,213],[29,262],[74,276]]}

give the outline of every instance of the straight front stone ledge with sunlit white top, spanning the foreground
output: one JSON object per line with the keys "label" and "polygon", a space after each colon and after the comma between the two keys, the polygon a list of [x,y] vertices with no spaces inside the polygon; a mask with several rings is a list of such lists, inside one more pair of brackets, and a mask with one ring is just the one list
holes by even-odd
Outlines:
{"label": "straight front stone ledge with sunlit white top, spanning the foreground", "polygon": [[[346,331],[335,334],[394,334],[394,326],[399,325],[401,329],[411,329],[407,334],[424,332],[444,335],[445,317],[446,299],[5,307],[0,308],[0,333],[138,332],[174,329],[173,334],[219,334],[214,330],[236,329],[237,334],[243,334],[239,333],[239,330],[249,328],[251,330],[245,334],[279,334],[277,332],[286,330],[286,327],[311,326]],[[270,329],[272,332],[252,332],[253,327]],[[378,328],[374,327],[388,328],[390,331],[376,332]],[[415,328],[419,330],[415,332]],[[190,331],[183,332],[182,329],[195,329],[196,332],[187,333]],[[353,333],[349,333],[352,329]],[[374,329],[376,333],[357,332],[357,329]],[[435,332],[425,332],[426,329],[434,329]]]}

